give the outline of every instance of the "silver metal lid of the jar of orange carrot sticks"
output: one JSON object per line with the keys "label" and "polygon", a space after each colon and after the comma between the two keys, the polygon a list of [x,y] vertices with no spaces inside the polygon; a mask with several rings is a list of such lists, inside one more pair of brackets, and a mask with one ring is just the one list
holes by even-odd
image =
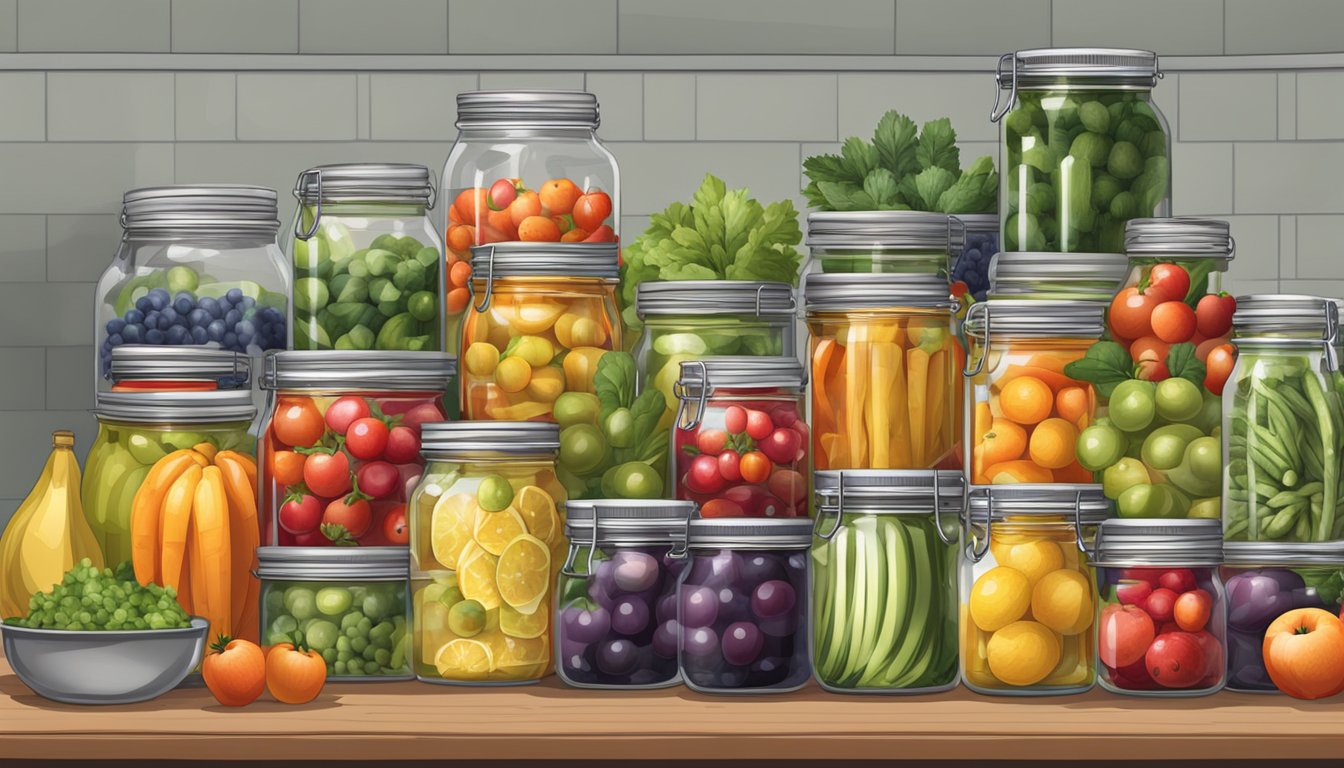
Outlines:
{"label": "silver metal lid of the jar of orange carrot sticks", "polygon": [[952,286],[939,274],[809,272],[802,277],[808,312],[849,309],[956,309]]}

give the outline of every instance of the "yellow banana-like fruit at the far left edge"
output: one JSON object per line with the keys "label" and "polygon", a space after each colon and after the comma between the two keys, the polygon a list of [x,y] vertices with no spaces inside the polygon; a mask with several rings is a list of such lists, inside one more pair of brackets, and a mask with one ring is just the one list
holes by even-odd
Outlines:
{"label": "yellow banana-like fruit at the far left edge", "polygon": [[79,500],[79,461],[74,445],[73,432],[51,433],[51,453],[42,475],[0,537],[0,574],[4,576],[0,616],[27,616],[34,594],[60,582],[83,561],[90,562],[86,568],[102,568],[102,550],[89,530]]}

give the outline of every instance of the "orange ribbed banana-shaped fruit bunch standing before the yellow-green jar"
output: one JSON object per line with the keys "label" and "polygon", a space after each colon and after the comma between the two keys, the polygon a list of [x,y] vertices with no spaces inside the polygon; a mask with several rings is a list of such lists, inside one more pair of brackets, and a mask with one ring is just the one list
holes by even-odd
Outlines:
{"label": "orange ribbed banana-shaped fruit bunch standing before the yellow-green jar", "polygon": [[216,635],[255,638],[257,465],[208,444],[151,467],[130,510],[136,580],[176,590]]}

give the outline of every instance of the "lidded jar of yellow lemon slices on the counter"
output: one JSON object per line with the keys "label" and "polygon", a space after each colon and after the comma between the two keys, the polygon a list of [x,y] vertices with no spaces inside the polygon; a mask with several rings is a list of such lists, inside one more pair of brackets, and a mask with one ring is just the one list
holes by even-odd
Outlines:
{"label": "lidded jar of yellow lemon slices on the counter", "polygon": [[411,495],[415,677],[530,683],[551,674],[551,589],[564,562],[564,486],[554,424],[423,429]]}

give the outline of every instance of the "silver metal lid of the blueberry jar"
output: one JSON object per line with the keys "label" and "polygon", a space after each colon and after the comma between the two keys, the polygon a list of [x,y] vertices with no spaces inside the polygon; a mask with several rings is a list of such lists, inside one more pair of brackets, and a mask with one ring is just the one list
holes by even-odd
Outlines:
{"label": "silver metal lid of the blueberry jar", "polygon": [[126,230],[280,230],[276,190],[246,184],[173,184],[129,190],[121,198]]}

